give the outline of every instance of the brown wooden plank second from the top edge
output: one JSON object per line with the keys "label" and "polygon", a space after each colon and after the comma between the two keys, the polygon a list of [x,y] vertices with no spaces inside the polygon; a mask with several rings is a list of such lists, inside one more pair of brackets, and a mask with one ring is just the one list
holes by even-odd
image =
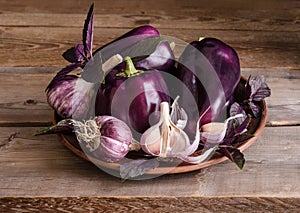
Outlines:
{"label": "brown wooden plank second from the top edge", "polygon": [[[86,8],[88,10],[88,8]],[[235,10],[233,14],[222,13],[222,10],[188,10],[186,13],[164,11],[110,11],[103,14],[95,9],[95,27],[133,28],[136,25],[151,24],[165,29],[198,29],[198,30],[244,30],[244,31],[285,31],[299,32],[300,9],[293,11]],[[85,14],[57,13],[9,13],[0,14],[0,26],[7,27],[82,27]]]}

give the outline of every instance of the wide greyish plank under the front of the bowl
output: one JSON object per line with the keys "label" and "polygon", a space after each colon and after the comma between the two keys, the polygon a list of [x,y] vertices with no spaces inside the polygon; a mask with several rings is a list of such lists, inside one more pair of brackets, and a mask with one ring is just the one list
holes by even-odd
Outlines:
{"label": "wide greyish plank under the front of the bowl", "polygon": [[0,197],[201,196],[300,198],[300,127],[267,127],[244,154],[240,171],[226,161],[186,174],[121,181],[78,158],[59,136],[38,128],[0,128]]}

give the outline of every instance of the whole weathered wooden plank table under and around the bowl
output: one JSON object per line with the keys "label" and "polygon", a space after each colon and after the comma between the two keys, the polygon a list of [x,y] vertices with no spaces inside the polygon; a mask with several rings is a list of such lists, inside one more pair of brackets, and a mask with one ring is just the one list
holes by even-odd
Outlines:
{"label": "whole weathered wooden plank table under and around the bowl", "polygon": [[151,24],[190,42],[233,46],[242,74],[272,90],[261,137],[243,171],[226,161],[186,174],[121,183],[75,156],[57,135],[44,89],[81,41],[91,1],[0,1],[0,211],[300,211],[300,2],[95,1],[94,45]]}

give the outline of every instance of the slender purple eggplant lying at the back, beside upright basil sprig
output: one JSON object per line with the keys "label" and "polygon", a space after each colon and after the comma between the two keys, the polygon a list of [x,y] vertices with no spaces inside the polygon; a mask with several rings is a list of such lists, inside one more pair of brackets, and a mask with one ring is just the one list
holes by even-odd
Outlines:
{"label": "slender purple eggplant lying at the back, beside upright basil sprig", "polygon": [[124,55],[123,52],[126,52],[129,47],[143,39],[152,37],[159,37],[159,32],[155,27],[150,25],[139,26],[98,48],[93,55],[101,53],[104,62],[115,54],[126,57],[128,55]]}

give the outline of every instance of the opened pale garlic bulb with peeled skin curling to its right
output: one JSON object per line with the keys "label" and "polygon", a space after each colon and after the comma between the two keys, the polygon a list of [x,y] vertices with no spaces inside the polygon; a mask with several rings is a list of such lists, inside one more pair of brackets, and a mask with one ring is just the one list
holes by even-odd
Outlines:
{"label": "opened pale garlic bulb with peeled skin curling to its right", "polygon": [[[175,101],[177,101],[177,99],[175,99]],[[173,115],[172,118],[182,118],[181,121],[180,119],[178,120],[179,122],[174,119],[174,122],[177,122],[177,124],[179,124],[178,126],[184,128],[187,120],[186,113],[183,109],[179,108],[178,105],[173,104],[173,107],[173,110],[177,109],[180,115],[174,116],[174,113],[171,113],[171,115]],[[180,110],[178,111],[178,109]],[[201,155],[195,157],[190,156],[199,146],[200,119],[197,122],[194,141],[191,143],[187,134],[172,121],[169,115],[169,104],[167,102],[161,103],[160,113],[159,122],[146,130],[141,137],[141,147],[146,153],[161,158],[175,157],[188,163],[199,164],[210,159],[218,149],[218,146],[213,146],[203,150]]]}

